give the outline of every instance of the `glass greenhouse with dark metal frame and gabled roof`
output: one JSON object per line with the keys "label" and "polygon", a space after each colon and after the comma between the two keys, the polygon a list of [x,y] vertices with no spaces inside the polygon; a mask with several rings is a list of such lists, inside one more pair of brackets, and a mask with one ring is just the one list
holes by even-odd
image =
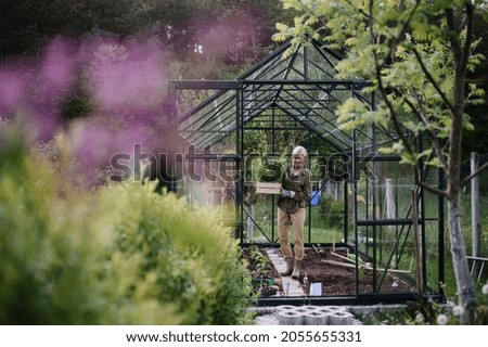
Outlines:
{"label": "glass greenhouse with dark metal frame and gabled roof", "polygon": [[[427,293],[442,300],[444,202],[415,185],[399,156],[378,151],[397,140],[393,129],[337,126],[335,110],[347,99],[375,107],[374,95],[362,93],[368,81],[335,79],[339,60],[317,42],[293,50],[287,43],[233,80],[171,81],[170,124],[189,147],[171,184],[190,203],[230,207],[222,222],[235,227],[243,248],[278,248],[277,196],[255,192],[255,171],[300,144],[313,177],[306,253],[346,249],[354,290],[260,297],[259,305],[394,304]],[[419,152],[429,146],[415,141]],[[432,168],[419,175],[442,182]],[[365,271],[367,287],[360,285]],[[396,288],[400,282],[406,285]]]}

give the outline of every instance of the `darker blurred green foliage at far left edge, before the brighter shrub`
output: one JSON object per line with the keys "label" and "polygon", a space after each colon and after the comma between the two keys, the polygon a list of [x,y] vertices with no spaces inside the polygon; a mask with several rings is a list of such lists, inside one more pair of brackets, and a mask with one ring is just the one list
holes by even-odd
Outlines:
{"label": "darker blurred green foliage at far left edge, before the brighter shrub", "polygon": [[124,293],[131,268],[106,258],[110,233],[97,226],[103,211],[93,196],[55,184],[55,172],[20,143],[8,142],[0,158],[2,324],[130,324],[145,309],[145,322],[177,322],[142,291]]}

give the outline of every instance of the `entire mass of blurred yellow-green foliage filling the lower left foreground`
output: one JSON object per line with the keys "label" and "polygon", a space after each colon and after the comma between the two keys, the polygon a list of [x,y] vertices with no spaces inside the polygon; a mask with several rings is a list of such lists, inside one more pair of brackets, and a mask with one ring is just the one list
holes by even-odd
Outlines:
{"label": "entire mass of blurred yellow-green foliage filling the lower left foreground", "polygon": [[216,211],[150,183],[80,190],[3,140],[1,324],[246,322],[251,280]]}

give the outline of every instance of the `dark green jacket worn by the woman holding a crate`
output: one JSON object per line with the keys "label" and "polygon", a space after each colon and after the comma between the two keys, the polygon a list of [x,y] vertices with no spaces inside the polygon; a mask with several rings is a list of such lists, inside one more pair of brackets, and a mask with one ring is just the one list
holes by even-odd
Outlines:
{"label": "dark green jacket worn by the woman holding a crate", "polygon": [[292,175],[292,167],[281,178],[281,185],[285,190],[294,191],[295,196],[278,198],[278,207],[288,214],[295,213],[298,208],[307,206],[310,200],[311,172],[304,169],[298,175]]}

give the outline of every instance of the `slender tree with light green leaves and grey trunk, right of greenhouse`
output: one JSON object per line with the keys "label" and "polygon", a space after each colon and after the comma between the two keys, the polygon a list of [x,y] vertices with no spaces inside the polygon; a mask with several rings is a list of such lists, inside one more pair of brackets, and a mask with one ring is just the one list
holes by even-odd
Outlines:
{"label": "slender tree with light green leaves and grey trunk, right of greenhouse", "polygon": [[[398,136],[384,152],[398,153],[413,167],[416,183],[448,202],[449,232],[462,322],[474,323],[476,286],[470,274],[462,230],[461,144],[470,129],[467,104],[484,102],[484,91],[467,79],[484,56],[476,53],[474,23],[486,15],[481,0],[283,0],[301,11],[294,26],[279,24],[277,40],[294,44],[317,39],[344,52],[338,78],[361,76],[364,92],[380,94],[376,110],[348,100],[337,110],[342,128],[375,123]],[[432,149],[422,153],[413,140],[426,134]],[[419,176],[421,163],[439,167],[444,189]]]}

